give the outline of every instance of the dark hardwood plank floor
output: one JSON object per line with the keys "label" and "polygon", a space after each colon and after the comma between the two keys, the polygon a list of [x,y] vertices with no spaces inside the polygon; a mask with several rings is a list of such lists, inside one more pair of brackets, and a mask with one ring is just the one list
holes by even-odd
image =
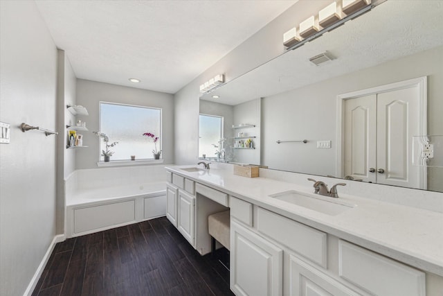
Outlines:
{"label": "dark hardwood plank floor", "polygon": [[[226,249],[217,251],[228,256]],[[57,243],[33,296],[233,295],[217,256],[200,256],[166,218]]]}

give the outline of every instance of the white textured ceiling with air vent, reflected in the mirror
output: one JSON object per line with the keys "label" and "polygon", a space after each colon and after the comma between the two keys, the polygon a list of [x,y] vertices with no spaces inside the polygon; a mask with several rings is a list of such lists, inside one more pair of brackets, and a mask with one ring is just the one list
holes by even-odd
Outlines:
{"label": "white textured ceiling with air vent, reflected in the mirror", "polygon": [[[442,16],[440,0],[388,0],[202,98],[237,105],[443,46]],[[324,51],[335,59],[320,66],[309,62]],[[214,94],[220,98],[212,98]]]}

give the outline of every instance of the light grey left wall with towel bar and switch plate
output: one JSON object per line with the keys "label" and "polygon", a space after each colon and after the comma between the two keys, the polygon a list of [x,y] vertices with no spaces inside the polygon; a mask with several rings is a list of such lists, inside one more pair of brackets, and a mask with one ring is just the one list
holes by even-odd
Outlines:
{"label": "light grey left wall with towel bar and switch plate", "polygon": [[[34,1],[0,1],[0,295],[23,295],[55,236],[57,49]],[[26,20],[26,21],[24,21]]]}

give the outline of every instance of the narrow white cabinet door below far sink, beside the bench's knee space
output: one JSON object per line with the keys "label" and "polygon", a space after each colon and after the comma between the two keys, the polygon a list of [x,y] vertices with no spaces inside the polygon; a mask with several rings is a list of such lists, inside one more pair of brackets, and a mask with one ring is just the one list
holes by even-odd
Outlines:
{"label": "narrow white cabinet door below far sink, beside the bench's knee space", "polygon": [[179,232],[194,246],[195,196],[179,189]]}

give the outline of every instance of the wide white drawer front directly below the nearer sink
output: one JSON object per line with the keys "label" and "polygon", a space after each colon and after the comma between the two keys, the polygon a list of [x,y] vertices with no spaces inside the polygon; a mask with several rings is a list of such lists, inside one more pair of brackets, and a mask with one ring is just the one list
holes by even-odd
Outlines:
{"label": "wide white drawer front directly below the nearer sink", "polygon": [[327,268],[325,232],[262,208],[257,210],[257,229],[310,261]]}

